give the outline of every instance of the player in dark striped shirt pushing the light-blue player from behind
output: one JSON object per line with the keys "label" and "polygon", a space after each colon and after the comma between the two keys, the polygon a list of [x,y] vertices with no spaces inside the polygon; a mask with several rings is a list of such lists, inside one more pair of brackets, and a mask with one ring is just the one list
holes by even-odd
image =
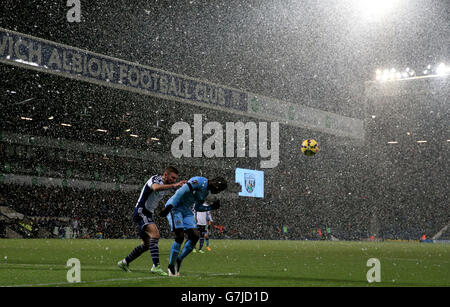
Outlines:
{"label": "player in dark striped shirt pushing the light-blue player from behind", "polygon": [[121,269],[129,272],[130,263],[150,250],[153,267],[151,272],[166,276],[167,273],[161,269],[159,263],[159,231],[153,219],[155,208],[160,200],[169,193],[174,193],[175,189],[181,187],[186,180],[176,183],[178,180],[178,170],[169,166],[164,174],[152,176],[141,190],[141,194],[133,212],[133,221],[138,226],[139,236],[142,238],[142,244],[135,247],[125,259],[117,264]]}

